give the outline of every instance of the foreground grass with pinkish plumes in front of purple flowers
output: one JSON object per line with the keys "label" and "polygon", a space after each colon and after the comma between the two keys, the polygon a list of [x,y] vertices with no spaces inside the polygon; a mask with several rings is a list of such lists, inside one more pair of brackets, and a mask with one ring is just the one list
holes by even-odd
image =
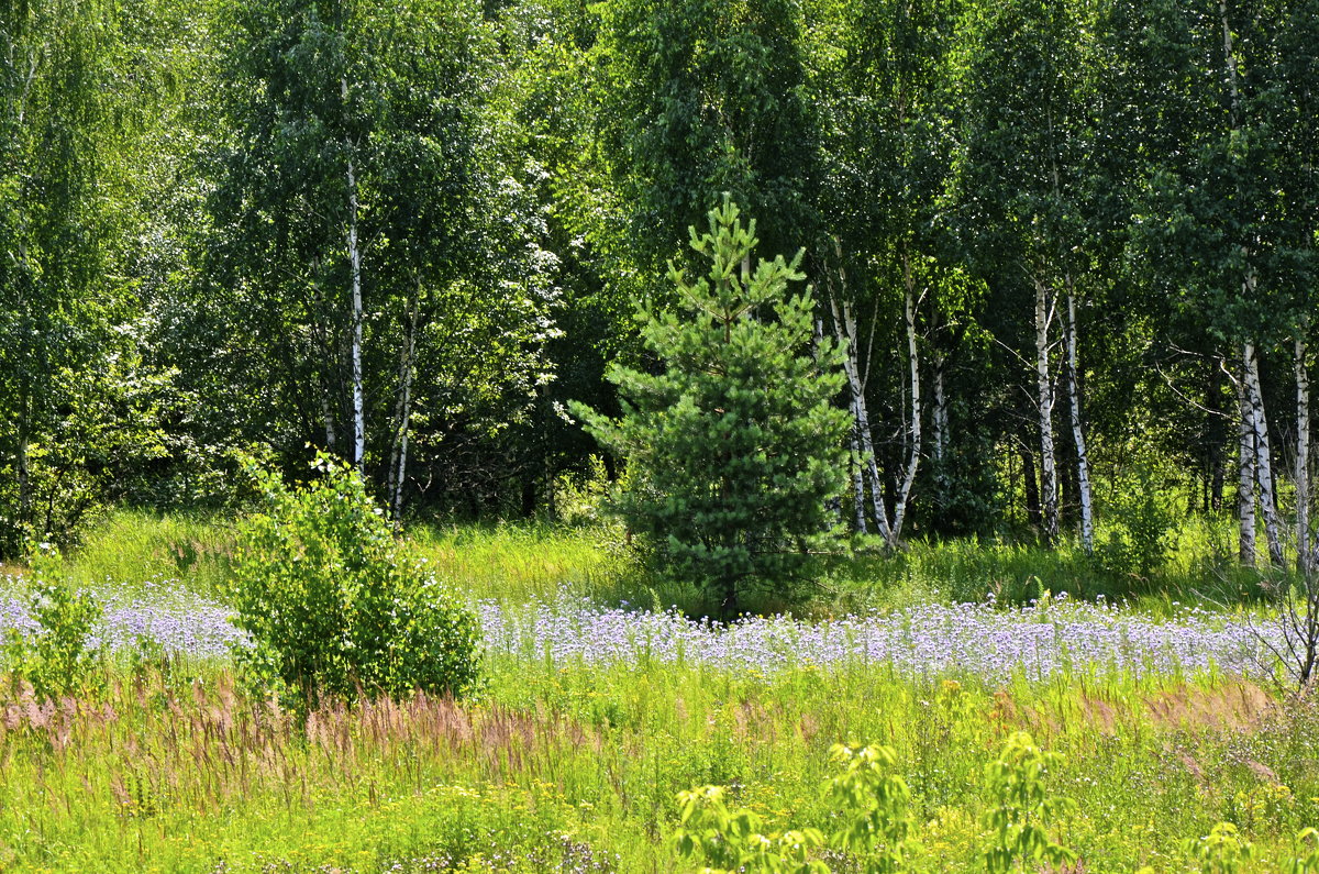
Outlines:
{"label": "foreground grass with pinkish plumes in front of purple flowers", "polygon": [[1018,727],[1063,755],[1051,791],[1078,809],[1057,828],[1086,870],[1187,870],[1179,840],[1228,819],[1261,850],[1246,870],[1273,871],[1319,821],[1319,714],[1231,680],[981,687],[496,656],[475,705],[324,706],[305,725],[224,669],[119,673],[103,698],[55,705],[11,692],[0,866],[674,870],[678,791],[729,786],[773,828],[827,829],[830,745],[874,741],[913,788],[915,870],[983,870],[984,767]]}

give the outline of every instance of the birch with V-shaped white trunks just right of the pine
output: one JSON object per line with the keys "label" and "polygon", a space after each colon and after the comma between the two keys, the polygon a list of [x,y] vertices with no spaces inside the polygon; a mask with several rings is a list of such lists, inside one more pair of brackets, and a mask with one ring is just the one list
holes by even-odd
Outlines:
{"label": "birch with V-shaped white trunks just right of the pine", "polygon": [[[940,98],[956,8],[905,0],[816,7],[811,88],[822,107],[819,213],[828,226],[816,261],[826,272],[830,321],[847,353],[861,463],[853,500],[871,507],[889,549],[902,537],[926,455],[929,378],[922,349],[925,314],[936,306],[939,293],[934,214],[948,158]],[[890,331],[888,323],[898,329]],[[881,354],[876,338],[888,343],[894,334],[904,372],[897,384],[885,380],[880,388],[871,379]],[[871,411],[876,392],[905,399],[894,405],[902,424],[896,441],[901,452],[888,453],[896,457],[890,495],[873,433],[889,422],[877,421]]]}

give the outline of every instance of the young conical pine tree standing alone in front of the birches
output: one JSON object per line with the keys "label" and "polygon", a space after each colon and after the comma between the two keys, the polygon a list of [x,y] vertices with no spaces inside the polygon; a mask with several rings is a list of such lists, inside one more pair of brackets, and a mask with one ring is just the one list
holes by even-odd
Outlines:
{"label": "young conical pine tree standing alone in front of the birches", "polygon": [[624,415],[574,412],[603,445],[628,459],[617,511],[648,537],[661,566],[706,586],[724,617],[751,585],[786,588],[811,548],[840,536],[826,502],[847,486],[843,438],[849,415],[839,347],[811,354],[810,289],[789,293],[802,252],[751,271],[756,223],[725,197],[710,231],[690,228],[711,260],[690,283],[670,265],[682,312],[642,309],[642,338],[661,359],[652,375],[615,366]]}

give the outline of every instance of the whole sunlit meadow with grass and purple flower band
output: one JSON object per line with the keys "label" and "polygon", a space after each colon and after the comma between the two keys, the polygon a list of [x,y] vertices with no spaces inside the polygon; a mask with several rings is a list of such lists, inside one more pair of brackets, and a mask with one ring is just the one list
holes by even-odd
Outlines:
{"label": "whole sunlit meadow with grass and purple flower band", "polygon": [[[1042,782],[1072,803],[1041,825],[1076,861],[1014,870],[1311,870],[1285,866],[1319,823],[1319,706],[1270,660],[1269,609],[1186,557],[1203,549],[1124,599],[1066,553],[917,544],[721,626],[607,528],[417,529],[480,617],[483,689],[302,721],[235,676],[231,543],[224,521],[119,514],[70,557],[111,655],[75,696],[5,685],[0,870],[695,870],[679,792],[827,833],[830,749],[881,743],[910,787],[901,870],[983,871],[987,766],[1020,730],[1059,756]],[[0,624],[21,631],[9,572]]]}

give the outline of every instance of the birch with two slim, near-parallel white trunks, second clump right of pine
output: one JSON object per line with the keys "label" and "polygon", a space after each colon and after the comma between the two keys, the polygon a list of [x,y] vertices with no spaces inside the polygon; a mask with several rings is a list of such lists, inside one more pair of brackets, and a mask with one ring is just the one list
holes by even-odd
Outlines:
{"label": "birch with two slim, near-parallel white trunks, second clump right of pine", "polygon": [[1078,360],[1078,292],[1089,236],[1079,218],[1086,213],[1092,173],[1087,160],[1093,152],[1089,46],[1078,38],[1089,30],[1086,15],[1079,4],[1033,0],[968,12],[959,71],[964,103],[958,220],[980,268],[1030,300],[1042,533],[1049,543],[1060,529],[1054,407],[1059,363],[1064,367],[1080,540],[1089,551],[1093,502]]}

